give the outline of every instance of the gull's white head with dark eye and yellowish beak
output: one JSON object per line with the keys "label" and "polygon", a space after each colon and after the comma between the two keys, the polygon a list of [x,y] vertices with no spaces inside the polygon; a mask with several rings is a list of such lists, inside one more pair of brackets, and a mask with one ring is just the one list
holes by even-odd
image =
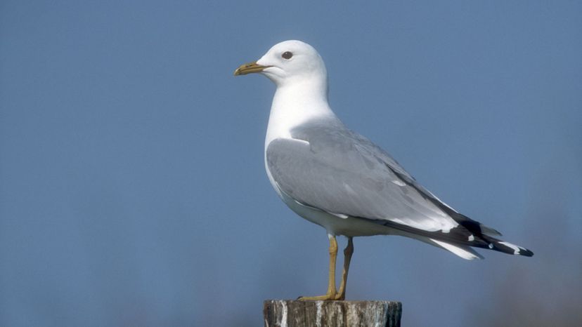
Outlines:
{"label": "gull's white head with dark eye and yellowish beak", "polygon": [[241,65],[234,74],[250,73],[263,74],[277,86],[309,81],[327,88],[328,73],[321,56],[313,46],[302,41],[276,44],[261,59]]}

